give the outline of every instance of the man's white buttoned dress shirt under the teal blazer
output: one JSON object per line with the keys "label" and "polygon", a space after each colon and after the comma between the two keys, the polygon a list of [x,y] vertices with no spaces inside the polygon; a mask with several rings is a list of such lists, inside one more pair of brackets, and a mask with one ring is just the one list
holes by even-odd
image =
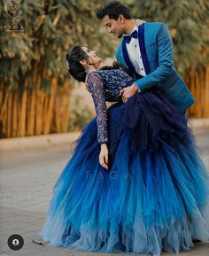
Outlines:
{"label": "man's white buttoned dress shirt under the teal blazer", "polygon": [[[135,30],[138,32],[138,27],[135,26],[131,33]],[[138,38],[131,37],[130,43],[127,43],[126,46],[128,50],[128,57],[130,58],[133,66],[135,66],[136,73],[145,76],[146,73],[143,66],[143,58],[141,55]]]}

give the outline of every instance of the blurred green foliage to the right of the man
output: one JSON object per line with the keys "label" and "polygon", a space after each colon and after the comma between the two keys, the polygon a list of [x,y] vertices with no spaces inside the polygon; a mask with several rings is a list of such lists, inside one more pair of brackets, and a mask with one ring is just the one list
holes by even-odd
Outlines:
{"label": "blurred green foliage to the right of the man", "polygon": [[163,21],[174,41],[175,65],[182,74],[209,62],[209,1],[126,0],[135,18]]}

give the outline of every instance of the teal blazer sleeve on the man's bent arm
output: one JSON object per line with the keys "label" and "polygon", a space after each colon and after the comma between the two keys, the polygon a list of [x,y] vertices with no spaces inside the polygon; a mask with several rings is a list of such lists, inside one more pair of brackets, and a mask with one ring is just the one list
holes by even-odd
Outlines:
{"label": "teal blazer sleeve on the man's bent arm", "polygon": [[172,73],[174,67],[174,48],[171,35],[165,23],[161,23],[157,35],[159,66],[156,70],[135,81],[136,86],[143,92],[146,89],[164,81]]}

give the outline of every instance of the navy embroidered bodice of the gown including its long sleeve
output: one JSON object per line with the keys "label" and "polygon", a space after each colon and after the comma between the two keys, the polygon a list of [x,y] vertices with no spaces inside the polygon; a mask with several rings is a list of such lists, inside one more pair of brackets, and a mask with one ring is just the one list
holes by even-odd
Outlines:
{"label": "navy embroidered bodice of the gown including its long sleeve", "polygon": [[120,89],[132,84],[133,78],[120,69],[89,73],[87,83],[97,112],[98,144],[108,142],[106,101],[120,101]]}

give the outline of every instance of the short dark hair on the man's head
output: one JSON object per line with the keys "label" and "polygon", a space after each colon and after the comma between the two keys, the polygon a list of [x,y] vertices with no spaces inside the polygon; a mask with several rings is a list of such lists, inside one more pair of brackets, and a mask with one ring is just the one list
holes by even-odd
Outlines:
{"label": "short dark hair on the man's head", "polygon": [[119,1],[111,1],[98,9],[97,19],[103,19],[105,15],[108,15],[110,19],[117,20],[120,14],[126,19],[132,19],[128,6]]}

